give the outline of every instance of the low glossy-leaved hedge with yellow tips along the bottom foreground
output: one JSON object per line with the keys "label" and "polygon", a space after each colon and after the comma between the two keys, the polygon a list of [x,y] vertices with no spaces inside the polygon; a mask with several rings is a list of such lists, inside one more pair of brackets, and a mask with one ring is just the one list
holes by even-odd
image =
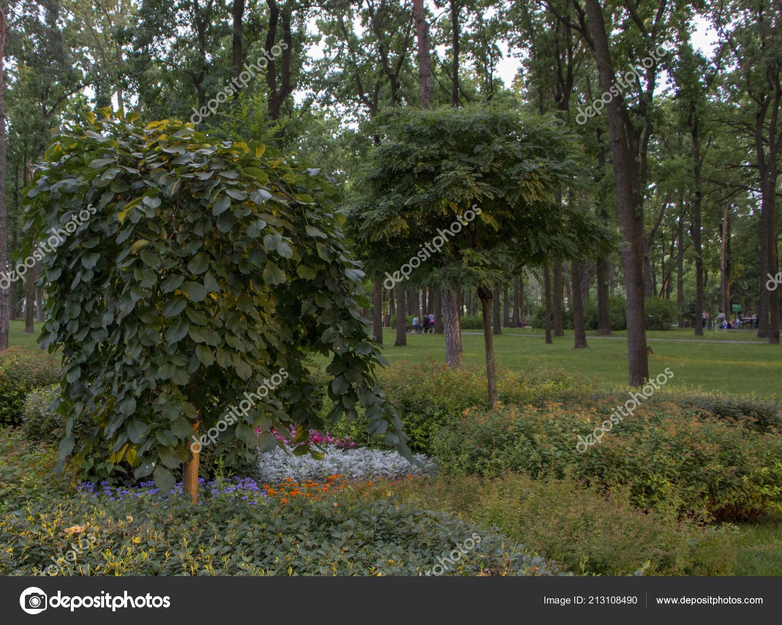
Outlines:
{"label": "low glossy-leaved hedge with yellow tips along the bottom foreground", "polygon": [[[54,559],[78,575],[421,575],[473,533],[479,544],[447,574],[557,572],[523,545],[453,515],[385,501],[273,501],[230,493],[204,494],[195,506],[186,496],[164,505],[87,494],[36,501],[29,514],[0,517],[0,574],[40,574]],[[77,535],[67,531],[74,526]],[[80,537],[90,545],[63,561]]]}

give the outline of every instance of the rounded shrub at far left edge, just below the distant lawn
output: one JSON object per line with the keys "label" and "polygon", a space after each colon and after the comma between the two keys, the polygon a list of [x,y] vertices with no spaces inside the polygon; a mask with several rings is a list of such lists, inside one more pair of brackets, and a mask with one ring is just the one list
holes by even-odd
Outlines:
{"label": "rounded shrub at far left edge, just below the distant lawn", "polygon": [[0,352],[0,427],[22,424],[27,393],[56,383],[60,365],[59,357],[37,347],[14,345]]}

